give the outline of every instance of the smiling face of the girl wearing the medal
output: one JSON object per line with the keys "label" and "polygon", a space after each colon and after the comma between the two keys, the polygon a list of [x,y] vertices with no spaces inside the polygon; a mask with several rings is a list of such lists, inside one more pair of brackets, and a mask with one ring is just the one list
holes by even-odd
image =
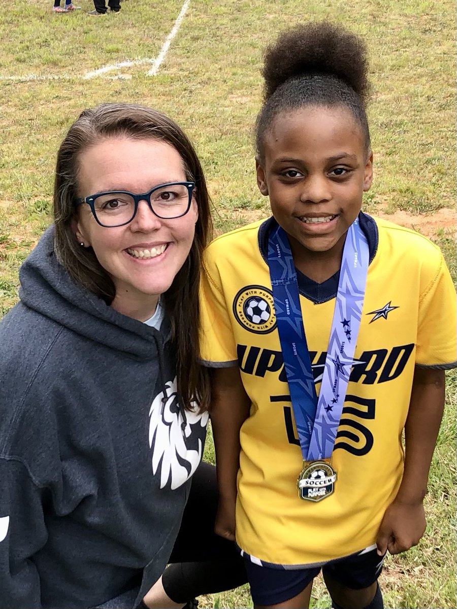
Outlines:
{"label": "smiling face of the girl wearing the medal", "polygon": [[294,259],[335,253],[372,182],[360,125],[345,108],[278,114],[264,138],[257,183],[288,233]]}

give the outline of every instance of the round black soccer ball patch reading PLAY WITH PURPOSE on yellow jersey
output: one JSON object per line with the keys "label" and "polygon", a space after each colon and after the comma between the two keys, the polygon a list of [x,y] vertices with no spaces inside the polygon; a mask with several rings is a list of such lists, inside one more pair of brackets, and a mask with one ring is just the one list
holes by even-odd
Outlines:
{"label": "round black soccer ball patch reading PLAY WITH PURPOSE on yellow jersey", "polygon": [[273,295],[263,286],[246,286],[233,299],[233,315],[250,332],[267,334],[276,327]]}

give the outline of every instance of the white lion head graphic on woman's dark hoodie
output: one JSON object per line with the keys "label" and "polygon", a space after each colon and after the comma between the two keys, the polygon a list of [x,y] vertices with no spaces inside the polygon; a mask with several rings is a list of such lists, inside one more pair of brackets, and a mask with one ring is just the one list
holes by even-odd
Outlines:
{"label": "white lion head graphic on woman's dark hoodie", "polygon": [[[183,417],[179,408],[176,377],[168,381],[163,392],[155,396],[149,410],[149,448],[152,448],[152,472],[160,468],[160,488],[171,482],[171,489],[179,488],[194,473],[203,451],[202,437],[190,438],[193,426],[205,428],[208,413],[197,414],[186,410],[186,426],[182,429]],[[187,444],[194,445],[188,448]]]}

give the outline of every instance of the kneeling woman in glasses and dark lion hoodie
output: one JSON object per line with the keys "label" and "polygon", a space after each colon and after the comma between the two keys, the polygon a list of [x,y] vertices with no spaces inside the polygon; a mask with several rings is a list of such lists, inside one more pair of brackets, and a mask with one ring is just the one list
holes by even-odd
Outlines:
{"label": "kneeling woman in glasses and dark lion hoodie", "polygon": [[[72,125],[54,226],[0,324],[2,609],[182,607],[244,582],[212,532],[214,472],[198,467],[210,225],[202,168],[171,119],[104,104]],[[162,579],[169,561],[186,564]]]}

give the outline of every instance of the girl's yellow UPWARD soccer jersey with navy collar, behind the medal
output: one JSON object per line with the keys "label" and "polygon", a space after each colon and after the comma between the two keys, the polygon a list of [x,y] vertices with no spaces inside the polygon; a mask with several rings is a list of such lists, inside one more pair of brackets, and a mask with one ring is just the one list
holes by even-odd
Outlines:
{"label": "girl's yellow UPWARD soccer jersey with navy collar, behind the medal", "polygon": [[[241,428],[236,541],[263,563],[310,565],[375,543],[403,471],[402,429],[415,365],[455,367],[455,290],[438,247],[406,228],[360,215],[370,247],[366,296],[324,501],[299,498],[297,437],[269,269],[274,219],[215,239],[202,277],[202,359],[239,365],[252,406]],[[316,284],[297,273],[319,393],[338,273]]]}

